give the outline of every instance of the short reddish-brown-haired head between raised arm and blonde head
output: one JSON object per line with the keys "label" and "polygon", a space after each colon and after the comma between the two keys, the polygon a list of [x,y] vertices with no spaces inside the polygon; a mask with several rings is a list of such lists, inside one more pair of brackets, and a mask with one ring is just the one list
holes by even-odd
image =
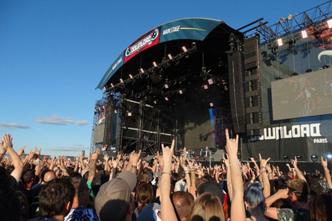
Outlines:
{"label": "short reddish-brown-haired head between raised arm and blonde head", "polygon": [[173,204],[181,221],[187,221],[189,213],[194,204],[194,197],[192,194],[184,191],[176,191],[172,197]]}

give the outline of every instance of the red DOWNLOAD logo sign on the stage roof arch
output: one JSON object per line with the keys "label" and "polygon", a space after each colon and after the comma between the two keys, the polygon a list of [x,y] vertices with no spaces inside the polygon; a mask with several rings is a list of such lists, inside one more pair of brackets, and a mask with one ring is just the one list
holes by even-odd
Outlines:
{"label": "red DOWNLOAD logo sign on the stage roof arch", "polygon": [[134,41],[133,44],[128,46],[126,50],[124,50],[124,63],[129,61],[139,52],[142,52],[143,50],[147,50],[147,48],[151,48],[152,46],[159,44],[160,29],[161,27],[159,26],[150,30],[149,32],[145,33],[145,35],[142,35],[139,39]]}

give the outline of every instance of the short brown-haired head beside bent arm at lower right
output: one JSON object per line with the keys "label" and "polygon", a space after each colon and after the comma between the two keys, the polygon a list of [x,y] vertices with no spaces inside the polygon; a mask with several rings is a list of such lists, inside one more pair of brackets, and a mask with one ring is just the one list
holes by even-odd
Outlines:
{"label": "short brown-haired head beside bent arm at lower right", "polygon": [[304,180],[295,179],[287,182],[289,199],[293,203],[308,202],[309,187]]}

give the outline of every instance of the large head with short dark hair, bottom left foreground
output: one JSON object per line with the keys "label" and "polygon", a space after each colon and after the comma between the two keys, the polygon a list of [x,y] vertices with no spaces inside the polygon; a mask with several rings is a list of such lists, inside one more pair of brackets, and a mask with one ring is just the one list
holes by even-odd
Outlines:
{"label": "large head with short dark hair, bottom left foreground", "polygon": [[39,193],[39,209],[44,218],[63,220],[71,210],[75,188],[68,178],[47,182]]}

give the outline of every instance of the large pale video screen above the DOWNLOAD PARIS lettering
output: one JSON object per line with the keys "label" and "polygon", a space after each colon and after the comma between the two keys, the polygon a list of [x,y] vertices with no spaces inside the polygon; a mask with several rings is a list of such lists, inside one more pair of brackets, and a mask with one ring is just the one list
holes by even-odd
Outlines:
{"label": "large pale video screen above the DOWNLOAD PARIS lettering", "polygon": [[273,81],[273,120],[332,113],[332,68]]}

